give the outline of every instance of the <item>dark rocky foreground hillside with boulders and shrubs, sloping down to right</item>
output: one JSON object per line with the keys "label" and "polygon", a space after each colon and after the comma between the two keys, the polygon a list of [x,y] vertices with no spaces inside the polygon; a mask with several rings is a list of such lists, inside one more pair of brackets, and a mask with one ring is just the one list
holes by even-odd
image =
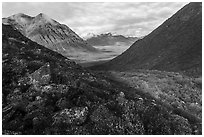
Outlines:
{"label": "dark rocky foreground hillside with boulders and shrubs, sloping down to right", "polygon": [[2,27],[3,134],[201,134],[196,117]]}

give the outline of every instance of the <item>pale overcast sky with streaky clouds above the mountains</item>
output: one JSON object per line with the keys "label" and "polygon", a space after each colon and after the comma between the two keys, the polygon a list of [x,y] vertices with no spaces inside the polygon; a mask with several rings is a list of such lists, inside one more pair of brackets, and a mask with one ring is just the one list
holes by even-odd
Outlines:
{"label": "pale overcast sky with streaky clouds above the mountains", "polygon": [[111,32],[144,36],[187,3],[2,3],[2,16],[44,13],[81,37]]}

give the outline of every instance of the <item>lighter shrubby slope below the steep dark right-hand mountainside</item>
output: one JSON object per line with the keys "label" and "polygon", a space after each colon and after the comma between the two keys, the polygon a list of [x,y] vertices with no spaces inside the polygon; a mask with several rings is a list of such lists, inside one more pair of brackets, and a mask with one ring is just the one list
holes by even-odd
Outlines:
{"label": "lighter shrubby slope below the steep dark right-hand mountainside", "polygon": [[139,70],[135,72],[110,71],[114,80],[148,94],[171,109],[180,109],[202,118],[202,79],[179,73]]}

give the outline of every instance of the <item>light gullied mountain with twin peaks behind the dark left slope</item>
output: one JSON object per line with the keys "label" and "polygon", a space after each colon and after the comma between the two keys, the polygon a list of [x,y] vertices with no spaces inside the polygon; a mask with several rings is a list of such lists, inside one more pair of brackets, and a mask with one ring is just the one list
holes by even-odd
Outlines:
{"label": "light gullied mountain with twin peaks behind the dark left slope", "polygon": [[31,17],[23,13],[2,19],[4,24],[10,24],[24,36],[51,50],[68,56],[75,52],[94,52],[95,48],[87,44],[66,25],[40,13]]}

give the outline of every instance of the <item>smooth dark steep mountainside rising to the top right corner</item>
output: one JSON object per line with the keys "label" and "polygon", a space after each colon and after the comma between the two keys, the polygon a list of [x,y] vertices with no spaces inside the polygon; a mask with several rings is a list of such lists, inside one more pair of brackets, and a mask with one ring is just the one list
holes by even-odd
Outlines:
{"label": "smooth dark steep mountainside rising to the top right corner", "polygon": [[202,73],[202,3],[189,3],[124,53],[95,69]]}

